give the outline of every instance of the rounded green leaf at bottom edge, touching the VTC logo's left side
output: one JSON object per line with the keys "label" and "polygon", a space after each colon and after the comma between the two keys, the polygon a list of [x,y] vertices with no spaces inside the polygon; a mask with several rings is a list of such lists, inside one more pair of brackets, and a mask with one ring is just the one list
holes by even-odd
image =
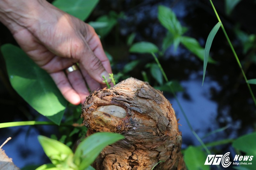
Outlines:
{"label": "rounded green leaf at bottom edge, touching the VTC logo's left side", "polygon": [[186,166],[188,167],[188,170],[210,170],[209,165],[204,165],[205,159],[206,155],[201,149],[197,147],[189,146],[184,151],[184,161]]}

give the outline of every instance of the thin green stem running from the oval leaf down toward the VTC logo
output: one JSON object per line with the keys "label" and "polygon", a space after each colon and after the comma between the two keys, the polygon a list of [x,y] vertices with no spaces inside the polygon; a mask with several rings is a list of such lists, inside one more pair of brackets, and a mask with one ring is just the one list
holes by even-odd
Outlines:
{"label": "thin green stem running from the oval leaf down toward the VTC logo", "polygon": [[[163,74],[163,76],[164,76],[165,81],[166,81],[166,82],[169,82],[169,81],[168,81],[168,78],[167,78],[167,76],[166,76],[166,74],[165,74],[165,72],[164,72],[164,69],[162,68],[161,64],[159,63],[159,61],[158,61],[156,55],[155,55],[154,53],[151,53],[151,54],[153,55],[154,59],[156,60],[156,63],[157,63],[157,65],[158,65],[158,67],[160,68],[160,70],[161,70],[161,72],[162,72],[162,74]],[[185,111],[183,110],[183,108],[182,108],[182,106],[181,106],[181,104],[180,104],[180,101],[178,100],[178,98],[177,98],[175,92],[174,92],[173,89],[172,89],[172,86],[169,85],[169,87],[170,87],[171,92],[172,92],[172,94],[173,94],[173,96],[174,96],[174,99],[176,100],[176,102],[178,103],[178,106],[180,107],[181,113],[182,113],[182,115],[184,116],[184,118],[185,118],[185,120],[186,120],[186,122],[187,122],[187,124],[188,124],[189,129],[191,130],[191,132],[193,133],[193,135],[196,137],[196,139],[200,142],[200,144],[203,146],[203,148],[205,149],[205,151],[206,151],[209,155],[211,155],[211,152],[210,152],[210,151],[208,150],[208,148],[205,146],[204,142],[201,140],[201,138],[200,138],[200,137],[196,134],[196,132],[193,130],[192,125],[190,124],[190,122],[189,122],[189,120],[188,120],[188,117],[187,117]]]}

